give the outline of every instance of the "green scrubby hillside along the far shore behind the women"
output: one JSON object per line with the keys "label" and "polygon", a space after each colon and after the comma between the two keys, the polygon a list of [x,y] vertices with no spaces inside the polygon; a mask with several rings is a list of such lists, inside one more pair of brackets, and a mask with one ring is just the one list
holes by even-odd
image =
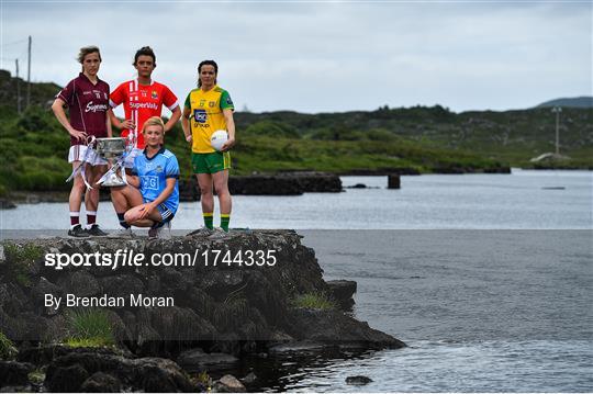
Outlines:
{"label": "green scrubby hillside along the far shore behind the women", "polygon": [[[22,80],[21,85],[25,82]],[[32,83],[31,106],[16,111],[16,78],[0,70],[0,196],[69,190],[68,136],[49,110],[55,83]],[[322,171],[335,175],[510,172],[511,167],[593,169],[593,111],[566,108],[564,159],[532,162],[555,150],[548,108],[454,113],[440,105],[302,114],[237,112],[232,176]],[[118,135],[118,132],[114,132]],[[190,148],[181,126],[166,137],[189,181]]]}

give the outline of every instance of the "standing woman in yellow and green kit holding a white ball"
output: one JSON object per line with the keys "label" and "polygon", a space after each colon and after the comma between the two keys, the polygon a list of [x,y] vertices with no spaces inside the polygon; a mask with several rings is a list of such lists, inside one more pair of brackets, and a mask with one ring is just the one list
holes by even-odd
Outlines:
{"label": "standing woman in yellow and green kit holding a white ball", "polygon": [[[198,177],[201,191],[202,215],[208,229],[213,229],[214,195],[221,205],[221,228],[228,233],[232,200],[228,192],[228,169],[231,154],[235,145],[235,122],[233,101],[228,92],[216,85],[219,66],[214,60],[204,60],[198,66],[198,88],[189,92],[183,106],[181,124],[186,139],[191,143],[191,165]],[[228,133],[228,139],[221,151],[215,150],[210,137],[219,130]]]}

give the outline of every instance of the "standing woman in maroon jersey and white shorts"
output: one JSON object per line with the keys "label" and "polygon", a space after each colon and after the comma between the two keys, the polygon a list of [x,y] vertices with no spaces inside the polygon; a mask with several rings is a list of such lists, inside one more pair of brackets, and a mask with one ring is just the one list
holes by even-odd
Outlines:
{"label": "standing woman in maroon jersey and white shorts", "polygon": [[[109,109],[109,85],[97,76],[101,65],[101,53],[97,46],[80,48],[78,61],[82,72],[72,79],[57,95],[52,110],[57,120],[70,135],[70,151],[68,162],[72,169],[85,166],[85,175],[93,189],[87,190],[80,175],[74,179],[70,191],[70,229],[72,237],[104,236],[107,233],[99,228],[97,209],[99,207],[99,187],[94,183],[107,171],[107,161],[91,148],[87,147],[92,137],[111,137],[111,123],[107,111]],[[69,120],[64,108],[68,108]],[[85,194],[87,227],[80,225],[80,205]]]}

